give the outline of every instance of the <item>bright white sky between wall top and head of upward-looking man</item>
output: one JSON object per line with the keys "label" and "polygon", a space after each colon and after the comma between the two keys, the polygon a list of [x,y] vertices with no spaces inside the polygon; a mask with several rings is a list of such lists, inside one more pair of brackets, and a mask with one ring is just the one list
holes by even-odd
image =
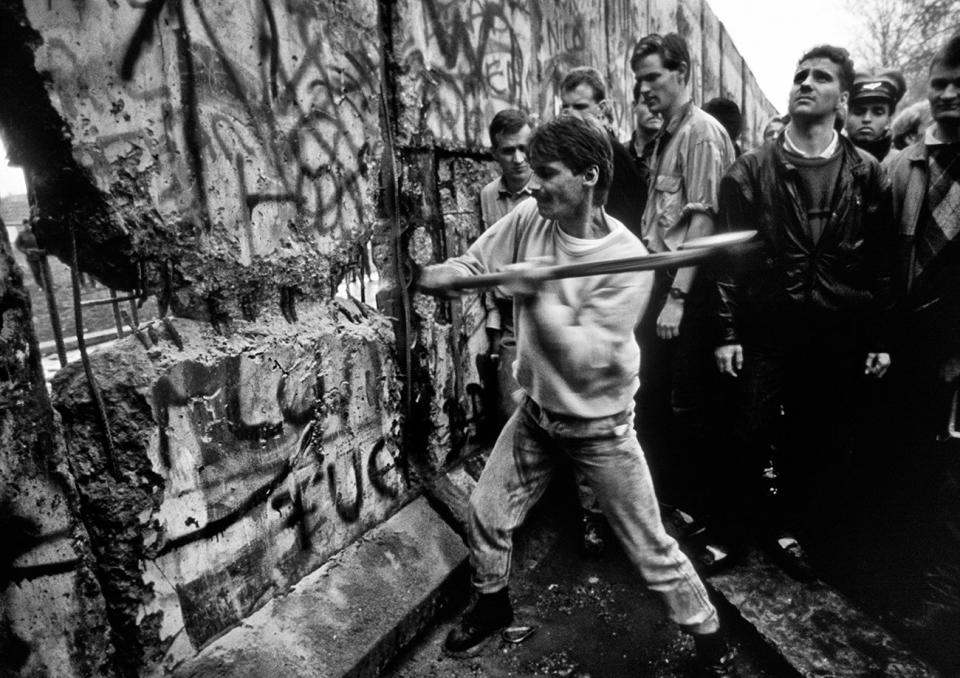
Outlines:
{"label": "bright white sky between wall top and head of upward-looking man", "polygon": [[856,19],[842,0],[707,0],[723,22],[764,94],[781,113],[797,60],[810,47],[832,44],[854,53]]}

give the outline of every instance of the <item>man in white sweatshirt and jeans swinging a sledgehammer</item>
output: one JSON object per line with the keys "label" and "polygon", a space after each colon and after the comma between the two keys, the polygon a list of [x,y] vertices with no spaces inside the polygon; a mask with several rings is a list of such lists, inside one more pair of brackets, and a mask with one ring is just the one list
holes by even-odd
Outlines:
{"label": "man in white sweatshirt and jeans swinging a sledgehammer", "polygon": [[443,294],[463,276],[508,270],[524,399],[497,439],[470,498],[468,545],[474,605],[446,649],[476,652],[513,620],[507,593],[514,530],[546,489],[562,455],[593,487],[624,550],[670,618],[692,633],[709,675],[732,675],[716,609],[660,521],[633,430],[640,349],[633,328],[650,294],[649,273],[544,280],[539,264],[604,261],[645,253],[603,208],[612,174],[609,135],[562,116],[530,139],[535,202],[510,212],[466,254],[430,266],[421,289]]}

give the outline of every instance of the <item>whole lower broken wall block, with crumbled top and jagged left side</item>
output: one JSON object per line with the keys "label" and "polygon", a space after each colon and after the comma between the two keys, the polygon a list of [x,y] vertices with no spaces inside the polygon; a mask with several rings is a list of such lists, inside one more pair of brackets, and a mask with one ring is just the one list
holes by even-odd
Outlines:
{"label": "whole lower broken wall block, with crumbled top and jagged left side", "polygon": [[[79,366],[55,401],[128,671],[193,656],[411,496],[385,320],[337,304],[230,338],[157,323],[91,356],[117,476]],[[272,321],[271,321],[272,320]]]}

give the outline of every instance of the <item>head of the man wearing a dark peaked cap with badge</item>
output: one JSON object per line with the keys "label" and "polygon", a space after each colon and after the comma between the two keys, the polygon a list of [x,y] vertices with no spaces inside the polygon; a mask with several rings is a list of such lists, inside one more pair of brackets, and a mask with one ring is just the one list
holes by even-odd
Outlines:
{"label": "head of the man wearing a dark peaked cap with badge", "polygon": [[890,122],[907,83],[900,71],[857,73],[850,92],[847,135],[859,148],[883,161],[892,149]]}

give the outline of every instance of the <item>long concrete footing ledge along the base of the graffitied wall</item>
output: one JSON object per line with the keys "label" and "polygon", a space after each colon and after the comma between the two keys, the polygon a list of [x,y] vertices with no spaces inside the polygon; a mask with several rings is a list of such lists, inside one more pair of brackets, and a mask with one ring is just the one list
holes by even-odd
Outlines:
{"label": "long concrete footing ledge along the base of the graffitied wall", "polygon": [[376,676],[430,622],[466,556],[421,497],[174,675]]}

